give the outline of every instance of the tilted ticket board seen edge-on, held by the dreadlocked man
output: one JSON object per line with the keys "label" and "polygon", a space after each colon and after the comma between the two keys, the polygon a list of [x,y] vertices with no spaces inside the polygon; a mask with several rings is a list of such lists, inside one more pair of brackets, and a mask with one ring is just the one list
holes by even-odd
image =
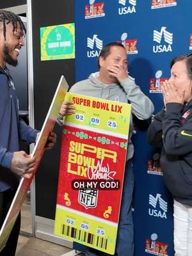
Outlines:
{"label": "tilted ticket board seen edge-on, held by the dreadlocked man", "polygon": [[13,198],[12,205],[10,206],[8,214],[6,215],[4,223],[1,227],[0,252],[1,250],[3,250],[6,241],[10,236],[10,232],[12,231],[15,220],[17,219],[17,216],[20,212],[20,207],[22,206],[26,198],[26,194],[30,188],[33,177],[35,176],[36,170],[40,164],[40,160],[42,159],[42,156],[44,154],[45,143],[47,142],[47,138],[49,137],[50,132],[54,128],[56,118],[58,117],[58,113],[60,111],[61,104],[63,102],[63,99],[65,98],[67,90],[67,81],[65,80],[64,76],[61,76],[60,82],[58,83],[58,87],[52,99],[51,106],[45,118],[44,125],[42,126],[42,130],[40,131],[40,135],[38,136],[38,141],[36,141],[35,148],[31,154],[31,156],[36,157],[35,172],[33,172],[33,175],[30,177],[30,179],[22,178],[20,180],[20,184]]}

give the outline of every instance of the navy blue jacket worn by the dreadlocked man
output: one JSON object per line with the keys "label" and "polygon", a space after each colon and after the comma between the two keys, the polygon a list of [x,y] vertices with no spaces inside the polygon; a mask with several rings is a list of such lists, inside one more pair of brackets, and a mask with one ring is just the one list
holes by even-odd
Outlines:
{"label": "navy blue jacket worn by the dreadlocked man", "polygon": [[36,131],[19,118],[19,100],[8,68],[0,67],[0,192],[18,183],[10,171],[13,152],[19,151],[19,140],[33,143]]}

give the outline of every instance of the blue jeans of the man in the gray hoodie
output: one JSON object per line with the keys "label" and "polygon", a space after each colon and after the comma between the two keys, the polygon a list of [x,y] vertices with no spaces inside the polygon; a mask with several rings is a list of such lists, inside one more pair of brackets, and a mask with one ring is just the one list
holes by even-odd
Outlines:
{"label": "blue jeans of the man in the gray hoodie", "polygon": [[[127,161],[125,165],[124,186],[122,193],[122,204],[120,209],[120,219],[118,222],[118,233],[116,240],[116,256],[133,256],[134,254],[134,233],[132,222],[132,192],[134,188],[134,176],[132,173],[132,161]],[[87,256],[108,256],[108,253],[102,253],[84,246],[84,252]]]}

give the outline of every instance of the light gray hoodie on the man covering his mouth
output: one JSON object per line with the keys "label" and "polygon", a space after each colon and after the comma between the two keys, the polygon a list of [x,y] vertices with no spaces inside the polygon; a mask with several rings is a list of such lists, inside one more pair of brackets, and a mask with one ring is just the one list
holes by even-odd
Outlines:
{"label": "light gray hoodie on the man covering his mouth", "polygon": [[140,120],[148,119],[154,112],[154,105],[152,101],[141,92],[140,87],[134,83],[134,78],[131,76],[127,77],[121,84],[113,83],[108,85],[100,82],[97,79],[98,76],[99,72],[91,74],[88,79],[74,84],[69,92],[131,104],[127,160],[131,159],[134,153],[134,147],[131,142],[132,115],[135,115]]}

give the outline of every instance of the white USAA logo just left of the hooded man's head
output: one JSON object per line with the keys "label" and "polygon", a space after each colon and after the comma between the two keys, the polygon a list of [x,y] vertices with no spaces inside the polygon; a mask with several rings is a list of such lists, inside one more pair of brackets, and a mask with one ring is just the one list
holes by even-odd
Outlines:
{"label": "white USAA logo just left of the hooded man's head", "polygon": [[[98,57],[102,49],[102,40],[97,35],[93,35],[93,38],[88,37],[87,47],[92,49],[92,51],[87,51],[88,58]],[[94,47],[96,48],[95,50]]]}

